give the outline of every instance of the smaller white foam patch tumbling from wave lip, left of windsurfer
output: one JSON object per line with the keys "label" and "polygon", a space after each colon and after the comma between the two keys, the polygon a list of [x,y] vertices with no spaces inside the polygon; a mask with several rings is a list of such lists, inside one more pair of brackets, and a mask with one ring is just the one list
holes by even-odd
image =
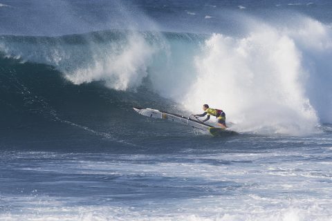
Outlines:
{"label": "smaller white foam patch tumbling from wave lip, left of windsurfer", "polygon": [[139,86],[147,76],[154,48],[139,35],[130,35],[126,46],[118,44],[115,47],[110,48],[104,59],[95,57],[89,67],[67,73],[66,78],[74,84],[104,81],[106,86],[116,90]]}

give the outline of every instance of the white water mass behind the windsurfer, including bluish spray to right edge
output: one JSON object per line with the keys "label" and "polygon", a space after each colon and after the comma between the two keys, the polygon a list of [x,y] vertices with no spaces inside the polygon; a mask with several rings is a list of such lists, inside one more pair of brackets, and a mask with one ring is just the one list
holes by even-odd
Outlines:
{"label": "white water mass behind the windsurfer, including bluish spray to right edge", "polygon": [[313,133],[318,116],[331,122],[331,30],[312,19],[291,29],[259,25],[244,38],[214,34],[205,41],[187,109],[222,108],[237,130],[257,133]]}

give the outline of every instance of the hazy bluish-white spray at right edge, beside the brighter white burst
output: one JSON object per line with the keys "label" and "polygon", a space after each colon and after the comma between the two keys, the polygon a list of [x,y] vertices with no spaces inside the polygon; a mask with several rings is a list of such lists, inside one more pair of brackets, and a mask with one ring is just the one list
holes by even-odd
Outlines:
{"label": "hazy bluish-white spray at right edge, beside the brighter white burst", "polygon": [[305,94],[321,123],[332,122],[332,30],[320,21],[304,17],[297,28],[285,30],[302,54],[302,67],[308,73]]}

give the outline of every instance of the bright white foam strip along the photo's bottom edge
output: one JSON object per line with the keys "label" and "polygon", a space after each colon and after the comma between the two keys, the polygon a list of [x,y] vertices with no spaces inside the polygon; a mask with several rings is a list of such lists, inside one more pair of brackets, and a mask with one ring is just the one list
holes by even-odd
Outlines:
{"label": "bright white foam strip along the photo's bottom edge", "polygon": [[[3,196],[14,202],[10,211],[0,212],[0,220],[267,220],[329,221],[331,202],[313,198],[262,198],[259,195],[228,195],[190,200],[163,200],[157,204],[67,206],[82,198],[52,198],[32,193],[28,197]],[[110,197],[109,201],[113,199]],[[19,210],[15,210],[19,207]]]}

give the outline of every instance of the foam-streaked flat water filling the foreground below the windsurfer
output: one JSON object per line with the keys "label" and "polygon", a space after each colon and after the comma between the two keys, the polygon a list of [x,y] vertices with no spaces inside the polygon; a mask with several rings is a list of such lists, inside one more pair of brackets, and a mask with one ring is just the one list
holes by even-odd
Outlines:
{"label": "foam-streaked flat water filling the foreground below the windsurfer", "polygon": [[[329,162],[330,153],[315,153],[311,149],[304,152],[310,157]],[[290,155],[293,157],[286,157]],[[140,194],[145,192],[142,189],[158,186],[169,187],[171,192],[183,188],[191,191],[196,189],[204,194],[198,197],[190,195],[189,191],[185,198],[167,198],[166,195],[153,198],[150,195],[159,193],[159,189],[151,189],[145,192],[147,195],[142,194],[142,198],[131,200],[126,194],[128,200],[118,200],[117,197],[122,194],[116,193],[116,189],[108,189],[110,192],[102,196],[82,194],[52,197],[43,195],[42,192],[46,190],[44,187],[41,190],[35,187],[30,193],[1,194],[4,210],[0,211],[0,220],[331,220],[331,166],[302,160],[302,155],[298,149],[251,154],[172,156],[105,153],[102,157],[99,153],[10,151],[0,157],[12,159],[13,162],[25,162],[17,164],[15,171],[30,169],[35,174],[40,171],[43,174],[45,171],[53,171],[58,175],[70,174],[70,180],[61,176],[64,180],[52,181],[69,186],[73,182],[82,182],[80,178],[75,179],[76,175],[117,175],[120,180],[133,184],[131,188],[140,190],[132,194]],[[165,161],[160,162],[160,158]],[[228,164],[214,164],[217,160]],[[279,173],[288,176],[283,178]],[[324,176],[304,176],[309,173],[321,173]],[[152,178],[148,181],[149,185],[141,186],[138,177],[143,177],[144,183],[145,177],[166,179],[154,182]],[[39,182],[47,183],[45,180]],[[113,182],[116,180],[110,180],[109,183],[102,181],[98,188],[112,185]]]}

